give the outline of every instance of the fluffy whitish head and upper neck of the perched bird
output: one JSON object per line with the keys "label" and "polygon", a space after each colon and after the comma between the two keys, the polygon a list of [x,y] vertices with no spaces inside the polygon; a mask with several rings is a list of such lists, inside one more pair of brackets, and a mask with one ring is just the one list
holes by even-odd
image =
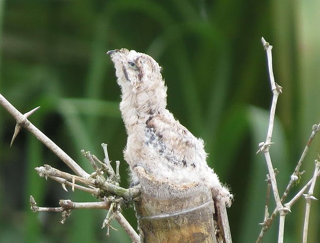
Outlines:
{"label": "fluffy whitish head and upper neck of the perched bird", "polygon": [[115,64],[123,100],[130,99],[137,110],[150,114],[165,108],[167,88],[162,80],[161,67],[153,58],[125,48],[107,54]]}

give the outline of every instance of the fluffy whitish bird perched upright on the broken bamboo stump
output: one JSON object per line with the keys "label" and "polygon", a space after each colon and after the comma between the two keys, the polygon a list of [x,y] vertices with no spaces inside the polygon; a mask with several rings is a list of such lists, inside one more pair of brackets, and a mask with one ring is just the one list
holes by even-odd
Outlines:
{"label": "fluffy whitish bird perched upright on the broken bamboo stump", "polygon": [[148,175],[164,182],[207,186],[214,199],[230,207],[233,195],[208,166],[203,140],[166,108],[167,86],[160,65],[149,55],[126,48],[107,54],[122,92],[120,111],[128,134],[124,159],[131,183],[138,183],[134,167],[142,166]]}

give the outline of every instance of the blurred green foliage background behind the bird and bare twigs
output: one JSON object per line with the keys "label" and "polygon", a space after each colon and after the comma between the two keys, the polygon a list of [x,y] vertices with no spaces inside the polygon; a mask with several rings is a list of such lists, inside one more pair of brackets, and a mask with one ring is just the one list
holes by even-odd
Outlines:
{"label": "blurred green foliage background behind the bird and bare twigs", "polygon": [[[254,242],[266,191],[264,158],[255,152],[271,100],[260,38],[274,46],[284,92],[271,147],[282,193],[320,122],[319,9],[317,0],[0,0],[0,92],[22,113],[40,105],[30,120],[88,172],[80,150],[102,158],[100,144],[108,143],[128,186],[120,89],[105,53],[126,47],[149,54],[164,67],[169,110],[205,140],[208,163],[235,194],[228,210],[234,242]],[[14,124],[0,109],[0,242],[129,242],[121,229],[105,238],[105,211],[74,211],[64,225],[58,214],[31,212],[30,194],[44,206],[94,198],[39,178],[37,166],[67,168],[26,131],[9,149]],[[311,178],[319,150],[316,137],[295,191]],[[316,188],[319,198],[319,182]],[[320,238],[319,205],[312,205],[309,242]],[[285,242],[301,242],[304,210],[300,199],[287,216]],[[124,215],[136,227],[133,210]],[[264,242],[276,235],[274,222]]]}

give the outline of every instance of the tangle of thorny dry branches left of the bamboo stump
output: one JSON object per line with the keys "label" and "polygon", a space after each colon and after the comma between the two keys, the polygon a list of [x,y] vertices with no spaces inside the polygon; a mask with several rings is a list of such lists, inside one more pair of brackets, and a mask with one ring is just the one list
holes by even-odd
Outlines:
{"label": "tangle of thorny dry branches left of the bamboo stump", "polygon": [[[52,168],[49,165],[44,165],[44,167],[35,168],[41,177],[45,177],[46,179],[49,177],[57,182],[62,184],[64,190],[67,191],[66,185],[70,186],[74,191],[74,188],[86,191],[90,194],[96,195],[100,197],[100,199],[105,198],[101,202],[72,202],[71,200],[60,200],[61,207],[38,207],[34,198],[30,196],[30,204],[31,209],[34,212],[62,212],[62,220],[63,224],[66,218],[71,214],[71,210],[73,209],[88,209],[88,208],[100,208],[100,209],[109,209],[110,205],[117,205],[117,213],[113,218],[115,218],[119,224],[125,229],[128,233],[128,236],[134,243],[140,242],[140,238],[134,229],[129,225],[128,221],[121,214],[120,204],[122,204],[123,199],[130,201],[136,198],[140,191],[137,188],[122,188],[119,185],[120,176],[119,176],[119,161],[117,161],[117,174],[113,171],[110,161],[108,158],[107,145],[102,145],[106,154],[106,159],[104,160],[106,164],[103,164],[98,158],[94,155],[85,153],[86,157],[90,161],[93,166],[95,173],[89,175],[86,173],[75,161],[73,161],[57,144],[55,144],[51,139],[49,139],[44,133],[42,133],[36,126],[34,126],[30,121],[28,121],[28,117],[33,114],[39,107],[31,110],[30,112],[21,114],[14,106],[12,106],[1,94],[0,94],[0,104],[13,116],[16,120],[17,124],[15,127],[15,131],[11,140],[12,145],[15,137],[22,127],[29,130],[32,134],[34,134],[42,143],[44,143],[52,152],[54,152],[64,163],[77,175],[71,175],[57,169]],[[103,165],[100,169],[96,166],[95,162]],[[111,180],[115,182],[112,184],[110,182],[106,182],[106,179],[103,177],[103,172],[108,172],[109,175],[112,175],[114,178]],[[71,182],[70,182],[71,181]],[[75,184],[75,182],[80,182],[85,186]],[[101,190],[102,194],[114,194],[116,197],[112,197],[112,200],[109,200],[106,197],[101,198]],[[116,203],[116,204],[115,204]],[[111,227],[111,226],[110,226]],[[109,232],[109,226],[108,226]]]}

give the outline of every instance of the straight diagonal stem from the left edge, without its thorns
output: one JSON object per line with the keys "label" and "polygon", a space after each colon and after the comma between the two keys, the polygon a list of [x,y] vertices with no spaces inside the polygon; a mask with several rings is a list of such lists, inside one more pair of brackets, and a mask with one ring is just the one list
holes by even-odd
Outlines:
{"label": "straight diagonal stem from the left edge, without its thorns", "polygon": [[14,106],[10,104],[0,94],[0,104],[12,115],[17,124],[26,128],[33,135],[35,135],[42,143],[44,143],[53,153],[55,153],[76,175],[87,178],[89,174],[86,173],[74,160],[70,158],[57,144],[48,138],[35,125],[28,121],[27,117],[21,114]]}

